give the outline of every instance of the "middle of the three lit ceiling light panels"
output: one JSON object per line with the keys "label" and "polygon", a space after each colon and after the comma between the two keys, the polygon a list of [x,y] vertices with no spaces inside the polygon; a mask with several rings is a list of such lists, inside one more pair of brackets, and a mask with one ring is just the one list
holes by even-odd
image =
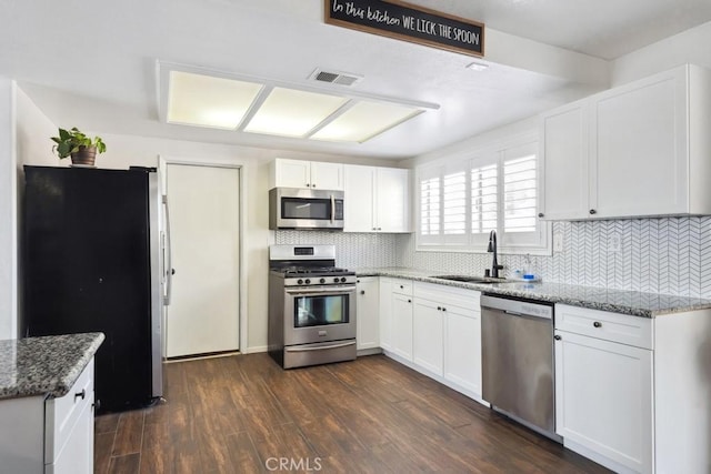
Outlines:
{"label": "middle of the three lit ceiling light panels", "polygon": [[244,127],[244,131],[304,137],[346,102],[348,99],[343,97],[274,88]]}

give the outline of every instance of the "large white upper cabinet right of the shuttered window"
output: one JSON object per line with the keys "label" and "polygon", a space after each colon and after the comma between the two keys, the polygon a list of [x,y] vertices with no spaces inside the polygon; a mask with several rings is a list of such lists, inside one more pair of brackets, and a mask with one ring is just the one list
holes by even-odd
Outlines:
{"label": "large white upper cabinet right of the shuttered window", "polygon": [[711,214],[711,72],[683,65],[541,115],[541,216]]}

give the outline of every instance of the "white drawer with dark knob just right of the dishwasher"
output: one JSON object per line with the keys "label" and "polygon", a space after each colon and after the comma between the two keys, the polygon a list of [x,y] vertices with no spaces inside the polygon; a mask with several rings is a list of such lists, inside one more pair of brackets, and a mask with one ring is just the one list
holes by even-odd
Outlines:
{"label": "white drawer with dark knob just right of the dishwasher", "polygon": [[648,317],[557,304],[555,329],[635,347],[654,349],[652,320]]}

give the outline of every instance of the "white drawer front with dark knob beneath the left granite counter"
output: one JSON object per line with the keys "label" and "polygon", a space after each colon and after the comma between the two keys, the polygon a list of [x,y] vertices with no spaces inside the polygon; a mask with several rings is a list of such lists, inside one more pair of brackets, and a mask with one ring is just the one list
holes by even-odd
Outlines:
{"label": "white drawer front with dark knob beneath the left granite counter", "polygon": [[44,403],[44,463],[53,463],[67,444],[72,428],[84,410],[93,404],[93,359],[60,399],[50,399]]}

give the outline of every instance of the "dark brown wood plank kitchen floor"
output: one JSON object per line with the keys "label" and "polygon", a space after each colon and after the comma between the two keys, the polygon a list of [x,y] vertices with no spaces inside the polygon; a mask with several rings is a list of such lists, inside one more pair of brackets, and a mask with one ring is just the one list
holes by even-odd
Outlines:
{"label": "dark brown wood plank kitchen floor", "polygon": [[382,355],[166,365],[167,403],[96,420],[97,473],[601,473]]}

